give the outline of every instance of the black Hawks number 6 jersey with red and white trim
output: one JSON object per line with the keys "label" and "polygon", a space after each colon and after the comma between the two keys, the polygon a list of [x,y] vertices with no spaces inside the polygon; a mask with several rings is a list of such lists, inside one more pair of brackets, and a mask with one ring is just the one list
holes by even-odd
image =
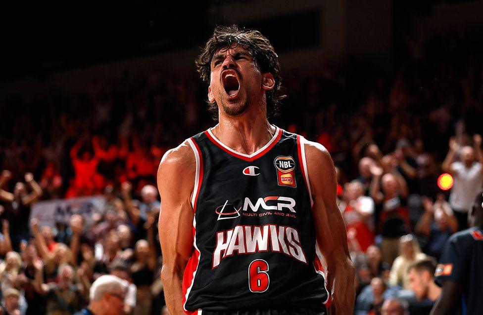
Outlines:
{"label": "black Hawks number 6 jersey with red and white trim", "polygon": [[322,312],[330,303],[303,141],[276,127],[263,148],[245,155],[210,130],[188,139],[196,158],[194,250],[183,278],[188,314]]}

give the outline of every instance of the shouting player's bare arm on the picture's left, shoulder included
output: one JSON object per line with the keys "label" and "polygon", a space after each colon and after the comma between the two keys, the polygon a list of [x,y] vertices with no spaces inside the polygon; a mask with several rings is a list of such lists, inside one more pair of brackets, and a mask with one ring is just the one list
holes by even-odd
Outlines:
{"label": "shouting player's bare arm on the picture's left, shoulder included", "polygon": [[166,152],[159,164],[157,183],[161,196],[159,241],[163,253],[161,279],[169,313],[184,314],[183,274],[193,253],[193,193],[195,159],[189,144]]}

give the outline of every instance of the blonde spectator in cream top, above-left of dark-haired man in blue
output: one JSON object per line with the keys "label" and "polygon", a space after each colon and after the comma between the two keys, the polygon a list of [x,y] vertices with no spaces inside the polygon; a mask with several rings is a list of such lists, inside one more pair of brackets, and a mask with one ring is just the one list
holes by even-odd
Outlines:
{"label": "blonde spectator in cream top, above-left of dark-haired man in blue", "polygon": [[389,274],[389,284],[399,285],[408,290],[410,287],[409,266],[427,256],[419,249],[416,238],[410,234],[401,236],[399,245],[400,255],[394,260]]}

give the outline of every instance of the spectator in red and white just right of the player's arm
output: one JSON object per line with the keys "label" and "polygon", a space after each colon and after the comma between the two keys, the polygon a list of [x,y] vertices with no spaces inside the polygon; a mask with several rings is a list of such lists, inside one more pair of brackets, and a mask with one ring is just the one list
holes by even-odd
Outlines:
{"label": "spectator in red and white just right of the player's arm", "polygon": [[350,251],[366,252],[374,243],[374,201],[364,196],[358,181],[346,184],[345,202],[339,204],[344,217]]}

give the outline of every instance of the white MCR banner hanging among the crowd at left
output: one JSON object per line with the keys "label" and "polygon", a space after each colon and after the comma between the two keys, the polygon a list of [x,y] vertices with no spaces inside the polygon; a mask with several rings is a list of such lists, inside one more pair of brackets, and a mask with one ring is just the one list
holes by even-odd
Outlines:
{"label": "white MCR banner hanging among the crowd at left", "polygon": [[86,226],[91,226],[93,214],[103,214],[105,203],[106,199],[102,195],[39,201],[32,207],[30,220],[37,218],[39,226],[48,225],[54,228],[55,223],[68,225],[73,214],[81,214],[86,220]]}

